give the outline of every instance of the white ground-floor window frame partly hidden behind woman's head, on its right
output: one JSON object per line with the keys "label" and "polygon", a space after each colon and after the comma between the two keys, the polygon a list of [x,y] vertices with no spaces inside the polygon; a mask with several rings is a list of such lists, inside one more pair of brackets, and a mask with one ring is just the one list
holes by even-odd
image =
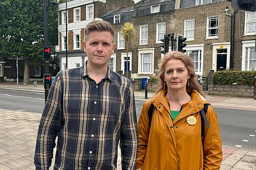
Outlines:
{"label": "white ground-floor window frame partly hidden behind woman's head, on its right", "polygon": [[[196,72],[196,75],[203,76],[204,44],[187,45],[183,49],[186,50],[187,52],[201,51],[201,61],[199,61],[200,65],[198,64],[198,68],[201,68],[201,69],[199,69],[199,71]],[[187,52],[186,52],[186,54],[187,54]],[[189,56],[189,54],[188,54],[188,56]]]}

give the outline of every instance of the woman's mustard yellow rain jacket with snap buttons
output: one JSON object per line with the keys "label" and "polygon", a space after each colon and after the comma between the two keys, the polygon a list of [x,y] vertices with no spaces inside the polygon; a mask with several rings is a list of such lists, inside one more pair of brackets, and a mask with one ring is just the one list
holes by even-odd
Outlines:
{"label": "woman's mustard yellow rain jacket with snap buttons", "polygon": [[[220,169],[222,146],[217,114],[209,105],[206,117],[210,127],[204,123],[205,139],[202,144],[199,111],[208,102],[196,91],[191,93],[191,98],[191,101],[184,104],[174,122],[170,117],[164,90],[144,103],[138,122],[137,169]],[[152,103],[155,105],[155,112],[149,129],[147,111]],[[195,125],[187,123],[186,118],[190,115],[196,117]]]}

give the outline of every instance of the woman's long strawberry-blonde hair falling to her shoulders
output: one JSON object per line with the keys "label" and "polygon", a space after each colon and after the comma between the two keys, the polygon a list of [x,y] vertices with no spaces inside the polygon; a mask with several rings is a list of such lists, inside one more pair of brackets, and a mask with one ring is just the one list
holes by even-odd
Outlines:
{"label": "woman's long strawberry-blonde hair falling to her shoulders", "polygon": [[[202,91],[200,85],[198,84],[196,80],[196,72],[194,68],[194,61],[186,54],[181,52],[169,52],[163,56],[162,59],[158,62],[158,76],[160,78],[160,82],[158,84],[158,88],[156,90],[156,93],[164,89],[164,71],[166,63],[169,60],[180,60],[182,63],[184,63],[185,67],[187,68],[188,74],[190,75],[190,78],[188,79],[189,85],[186,86],[186,91],[189,94],[192,90],[197,90],[202,96],[205,97],[204,92]],[[165,84],[165,92],[167,93],[167,85]]]}

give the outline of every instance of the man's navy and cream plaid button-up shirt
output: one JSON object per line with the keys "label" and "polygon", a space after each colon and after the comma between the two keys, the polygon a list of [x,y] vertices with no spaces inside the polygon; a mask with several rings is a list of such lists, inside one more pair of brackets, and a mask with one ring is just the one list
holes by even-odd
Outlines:
{"label": "man's navy and cream plaid button-up shirt", "polygon": [[36,169],[116,169],[120,139],[122,169],[135,169],[138,129],[131,81],[108,70],[98,84],[86,66],[58,72],[42,113]]}

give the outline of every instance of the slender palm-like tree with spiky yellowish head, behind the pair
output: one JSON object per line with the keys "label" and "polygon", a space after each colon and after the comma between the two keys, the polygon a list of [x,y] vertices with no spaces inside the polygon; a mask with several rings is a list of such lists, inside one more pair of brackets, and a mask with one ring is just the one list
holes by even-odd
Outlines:
{"label": "slender palm-like tree with spiky yellowish head, behind the pair", "polygon": [[[126,45],[126,78],[128,78],[128,51],[129,51],[129,45],[131,45],[131,40],[135,35],[135,29],[132,22],[124,22],[122,29],[121,29],[121,35],[124,38],[124,42]],[[132,63],[131,63],[132,64]]]}

